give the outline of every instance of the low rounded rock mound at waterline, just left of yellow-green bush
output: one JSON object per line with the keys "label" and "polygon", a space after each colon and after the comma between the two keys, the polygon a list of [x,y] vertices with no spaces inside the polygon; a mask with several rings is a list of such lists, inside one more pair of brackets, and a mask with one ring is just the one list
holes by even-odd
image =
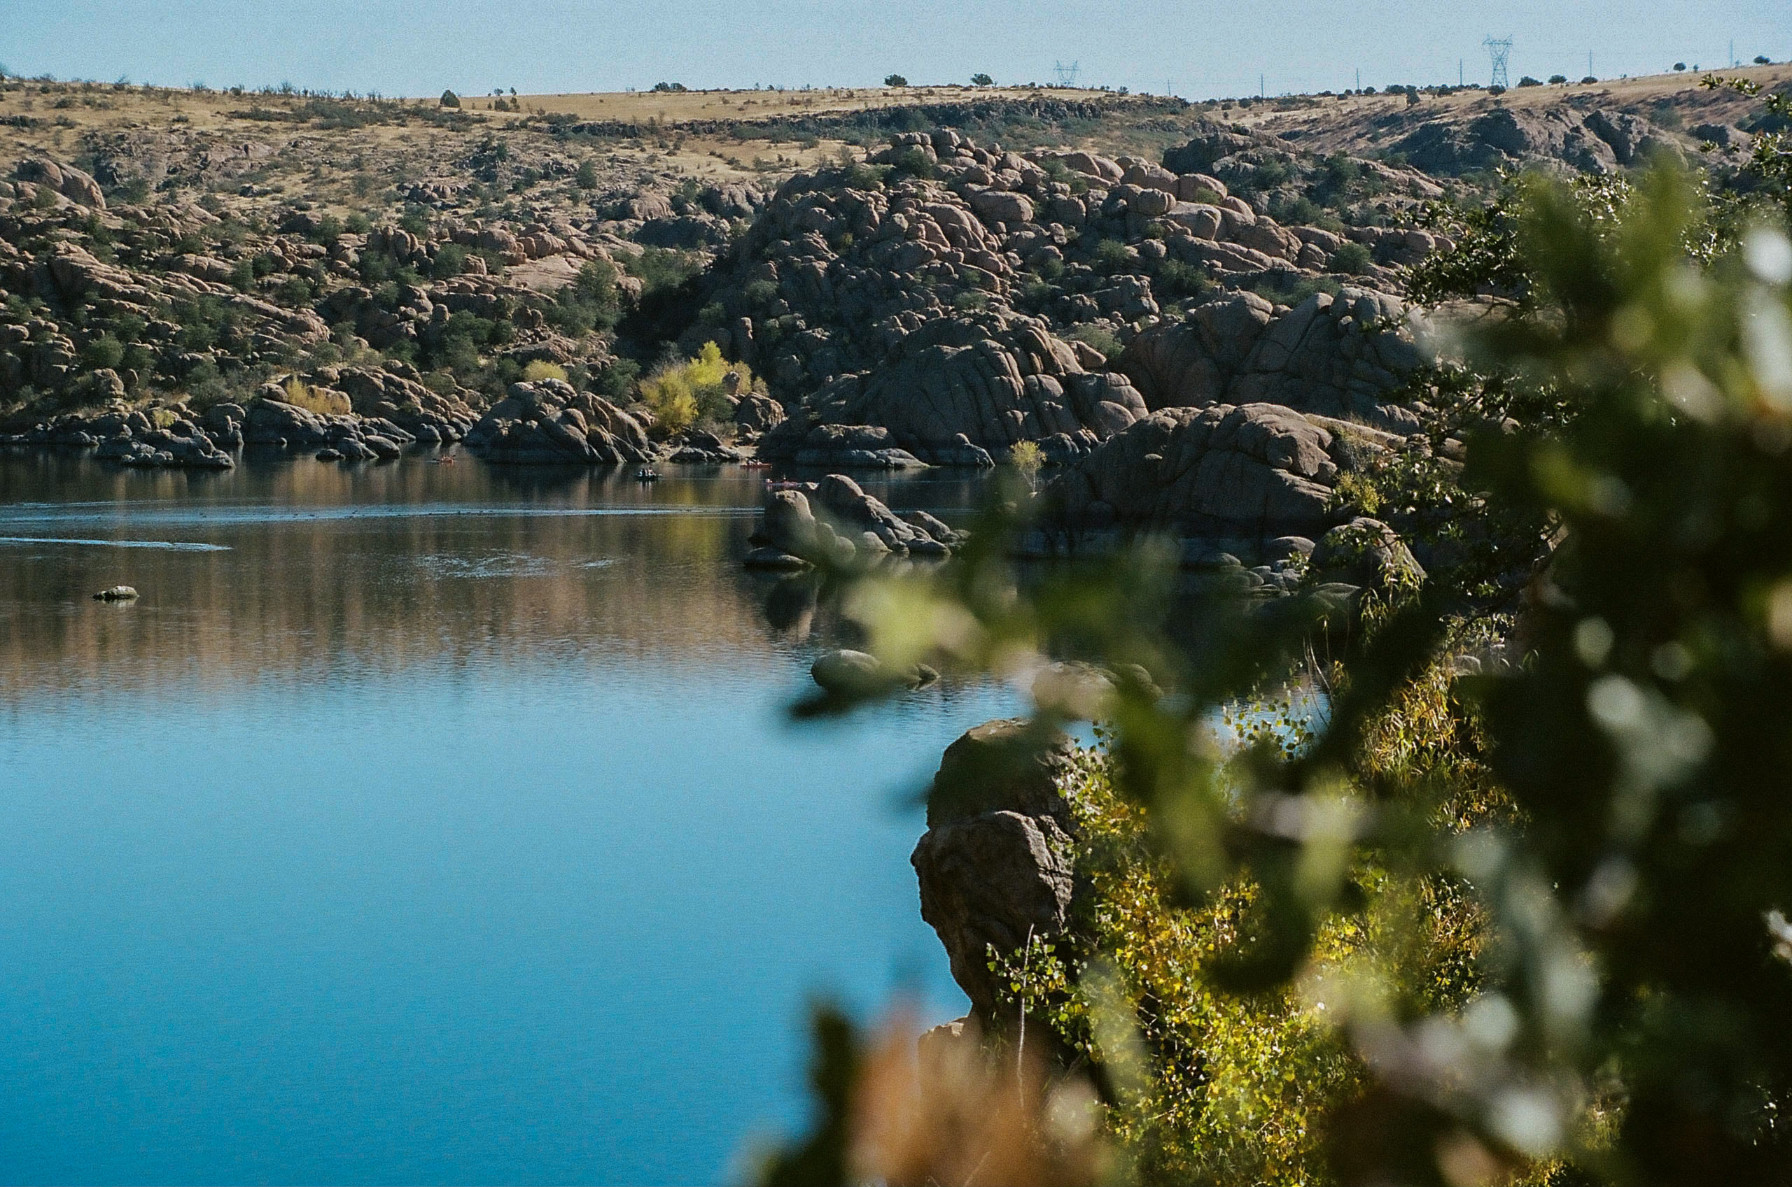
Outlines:
{"label": "low rounded rock mound at waterline, just left of yellow-green bush", "polygon": [[505,465],[622,465],[656,457],[633,415],[561,380],[513,383],[466,435],[466,446]]}

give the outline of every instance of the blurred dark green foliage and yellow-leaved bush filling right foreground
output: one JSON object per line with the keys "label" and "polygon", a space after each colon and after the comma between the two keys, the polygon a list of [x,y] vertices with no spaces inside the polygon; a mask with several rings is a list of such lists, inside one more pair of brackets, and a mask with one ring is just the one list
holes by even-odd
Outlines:
{"label": "blurred dark green foliage and yellow-leaved bush filling right foreground", "polygon": [[1102,723],[1093,915],[991,960],[1118,1174],[1792,1182],[1785,208],[1658,168],[1455,217],[1421,292],[1503,301],[1416,380],[1432,458],[1360,478],[1457,534],[1423,587],[1192,607],[1172,550],[1023,571],[993,512],[846,607],[892,671],[1111,673],[1038,704]]}

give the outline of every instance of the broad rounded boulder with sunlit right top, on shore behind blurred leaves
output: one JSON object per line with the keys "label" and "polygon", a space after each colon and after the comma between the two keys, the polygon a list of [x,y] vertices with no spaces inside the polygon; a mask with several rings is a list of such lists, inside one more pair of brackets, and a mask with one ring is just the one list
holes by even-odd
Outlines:
{"label": "broad rounded boulder with sunlit right top, on shore behind blurred leaves", "polygon": [[1165,408],[1070,465],[1041,500],[1072,530],[1312,537],[1337,521],[1342,431],[1279,405]]}

